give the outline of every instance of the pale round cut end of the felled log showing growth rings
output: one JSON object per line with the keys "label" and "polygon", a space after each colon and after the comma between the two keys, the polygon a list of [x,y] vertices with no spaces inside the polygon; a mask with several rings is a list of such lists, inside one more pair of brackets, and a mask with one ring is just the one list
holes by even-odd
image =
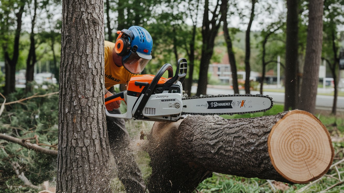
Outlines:
{"label": "pale round cut end of the felled log showing growth rings", "polygon": [[334,149],[330,134],[306,111],[288,112],[271,129],[269,156],[276,171],[293,183],[308,183],[330,168]]}

